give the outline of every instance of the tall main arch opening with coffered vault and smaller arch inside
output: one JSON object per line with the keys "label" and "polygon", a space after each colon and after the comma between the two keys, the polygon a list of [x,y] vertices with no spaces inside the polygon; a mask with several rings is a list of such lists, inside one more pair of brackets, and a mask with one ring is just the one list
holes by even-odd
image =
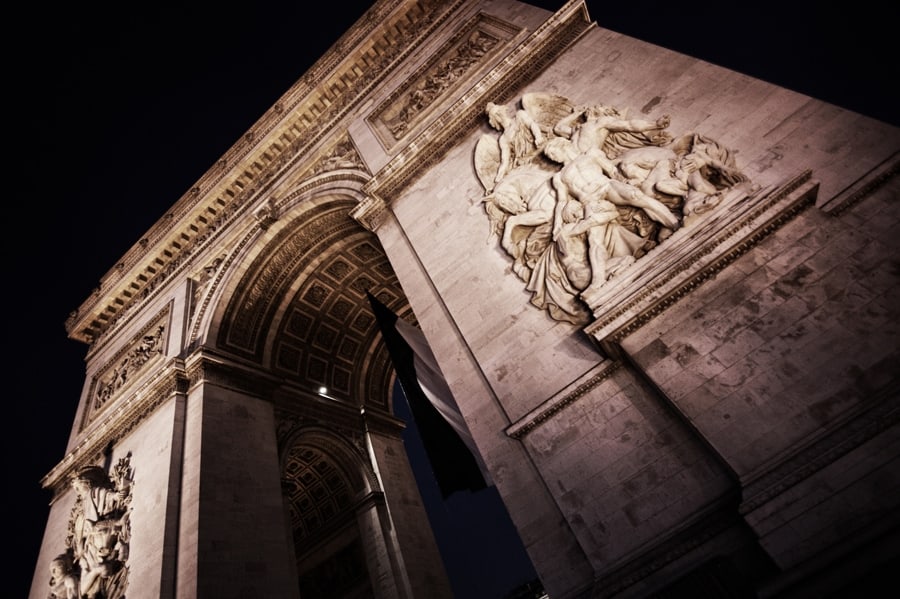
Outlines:
{"label": "tall main arch opening with coffered vault and smaller arch inside", "polygon": [[[366,293],[410,309],[380,241],[350,216],[352,187],[332,174],[272,202],[272,218],[223,258],[209,314],[196,317],[206,342],[195,338],[274,407],[301,596],[412,597],[429,585],[443,596],[415,479],[397,460],[404,425]],[[410,552],[422,543],[431,549]]]}

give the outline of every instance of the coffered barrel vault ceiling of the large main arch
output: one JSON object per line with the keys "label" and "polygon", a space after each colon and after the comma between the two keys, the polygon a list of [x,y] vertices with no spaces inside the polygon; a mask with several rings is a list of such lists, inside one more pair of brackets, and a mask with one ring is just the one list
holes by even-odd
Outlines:
{"label": "coffered barrel vault ceiling of the large main arch", "polygon": [[392,368],[366,292],[409,312],[357,194],[323,185],[275,205],[269,227],[228,257],[206,344],[296,388],[390,410]]}

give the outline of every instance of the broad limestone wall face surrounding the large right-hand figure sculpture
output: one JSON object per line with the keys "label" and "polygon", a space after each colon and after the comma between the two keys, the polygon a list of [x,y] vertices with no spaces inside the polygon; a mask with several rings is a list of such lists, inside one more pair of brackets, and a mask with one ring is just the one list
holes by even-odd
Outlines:
{"label": "broad limestone wall face surrounding the large right-hand figure sculpture", "polygon": [[[848,425],[872,391],[890,396],[896,184],[829,213],[849,189],[895,169],[900,131],[602,28],[521,88],[485,90],[483,104],[541,91],[642,118],[669,115],[674,135],[700,133],[734,150],[757,197],[807,171],[818,185],[814,206],[766,229],[752,251],[624,336],[633,361],[612,374],[615,357],[582,328],[529,303],[489,237],[473,165],[479,137],[496,134],[486,119],[384,198],[391,215],[378,234],[410,304],[542,579],[551,595],[569,596],[742,487],[763,497],[752,486],[758,477]],[[638,384],[642,371],[647,385]],[[859,468],[842,483],[847,495],[832,490],[842,498],[823,499],[823,510],[844,503],[846,518],[858,507],[865,522],[882,513],[882,500],[860,502],[884,477],[896,480],[895,466]],[[825,478],[808,484],[833,482],[817,476]],[[859,494],[849,491],[857,480]],[[731,509],[736,516],[737,499]],[[840,536],[824,511],[798,509],[805,550],[796,535],[786,539],[788,523],[748,517],[782,567],[811,557],[813,539]],[[807,527],[807,516],[817,523]]]}

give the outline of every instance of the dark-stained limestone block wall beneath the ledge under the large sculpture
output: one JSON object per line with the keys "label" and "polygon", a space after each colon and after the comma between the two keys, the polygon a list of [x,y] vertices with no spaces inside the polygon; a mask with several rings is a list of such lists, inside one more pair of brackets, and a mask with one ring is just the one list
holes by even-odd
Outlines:
{"label": "dark-stained limestone block wall beneath the ledge under the large sculpture", "polygon": [[805,212],[623,341],[740,476],[785,567],[893,521],[897,190]]}

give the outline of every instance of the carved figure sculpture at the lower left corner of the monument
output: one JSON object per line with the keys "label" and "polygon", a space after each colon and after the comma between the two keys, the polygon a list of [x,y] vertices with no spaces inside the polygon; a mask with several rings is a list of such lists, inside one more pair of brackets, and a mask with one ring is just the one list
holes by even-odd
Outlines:
{"label": "carved figure sculpture at the lower left corner of the monument", "polygon": [[112,475],[85,466],[72,479],[76,494],[66,550],[50,563],[49,599],[124,599],[131,540],[131,454]]}

